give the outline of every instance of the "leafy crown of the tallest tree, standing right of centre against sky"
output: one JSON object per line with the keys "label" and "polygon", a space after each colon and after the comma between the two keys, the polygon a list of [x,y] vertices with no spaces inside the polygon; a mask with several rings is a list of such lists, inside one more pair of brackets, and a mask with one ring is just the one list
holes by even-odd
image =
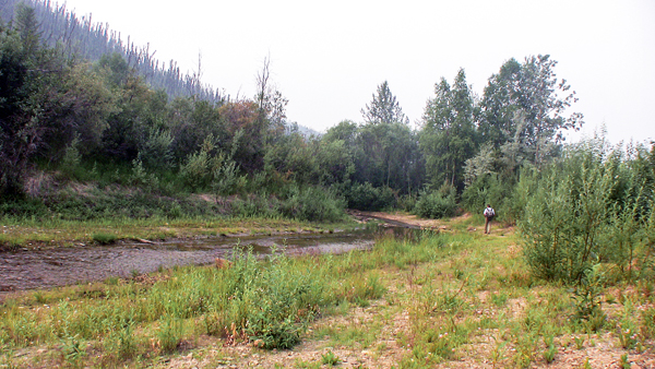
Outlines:
{"label": "leafy crown of the tallest tree, standing right of centre against sky", "polygon": [[582,126],[581,114],[564,115],[575,92],[557,79],[556,66],[549,55],[531,56],[523,63],[512,58],[485,87],[479,132],[495,147],[504,146],[504,170],[513,172],[523,160],[547,163],[563,130]]}

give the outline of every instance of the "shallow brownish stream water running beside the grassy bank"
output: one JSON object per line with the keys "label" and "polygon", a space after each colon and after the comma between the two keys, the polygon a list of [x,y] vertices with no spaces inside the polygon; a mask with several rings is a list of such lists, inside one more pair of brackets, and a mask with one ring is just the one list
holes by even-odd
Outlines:
{"label": "shallow brownish stream water running beside the grassy bank", "polygon": [[154,272],[160,266],[207,264],[213,263],[215,258],[229,258],[237,245],[251,247],[255,254],[270,254],[276,249],[289,254],[341,253],[370,248],[373,238],[374,233],[355,230],[0,252],[0,291],[128,277],[133,273]]}

